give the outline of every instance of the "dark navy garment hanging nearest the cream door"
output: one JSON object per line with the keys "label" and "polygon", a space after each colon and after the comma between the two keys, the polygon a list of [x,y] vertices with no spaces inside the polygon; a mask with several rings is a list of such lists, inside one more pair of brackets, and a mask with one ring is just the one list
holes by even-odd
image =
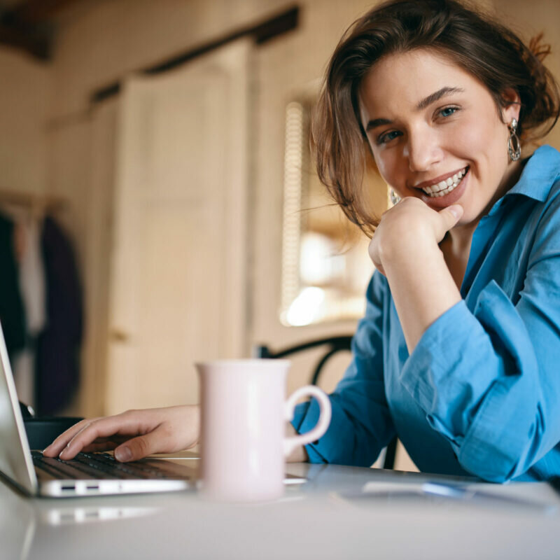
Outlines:
{"label": "dark navy garment hanging nearest the cream door", "polygon": [[56,414],[78,387],[82,292],[71,242],[50,216],[43,221],[46,323],[36,341],[36,407]]}

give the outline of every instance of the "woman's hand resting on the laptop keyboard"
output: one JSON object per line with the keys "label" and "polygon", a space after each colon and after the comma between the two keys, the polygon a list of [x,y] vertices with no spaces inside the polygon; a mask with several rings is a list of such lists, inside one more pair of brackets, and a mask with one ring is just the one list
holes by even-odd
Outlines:
{"label": "woman's hand resting on the laptop keyboard", "polygon": [[80,451],[115,450],[118,461],[136,461],[154,453],[193,447],[200,435],[200,407],[186,405],[128,410],[85,419],[59,435],[43,455],[69,460]]}

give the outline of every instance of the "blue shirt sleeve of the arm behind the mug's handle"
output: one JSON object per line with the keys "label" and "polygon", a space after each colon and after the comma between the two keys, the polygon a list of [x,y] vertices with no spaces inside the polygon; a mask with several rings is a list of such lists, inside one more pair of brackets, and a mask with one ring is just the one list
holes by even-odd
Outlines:
{"label": "blue shirt sleeve of the arm behind the mug's handle", "polygon": [[[365,318],[352,340],[352,362],[330,395],[330,426],[318,442],[306,446],[313,463],[370,466],[395,434],[383,377],[386,289],[386,280],[376,272],[367,288]],[[297,405],[292,421],[295,430],[311,430],[318,414],[315,400]]]}

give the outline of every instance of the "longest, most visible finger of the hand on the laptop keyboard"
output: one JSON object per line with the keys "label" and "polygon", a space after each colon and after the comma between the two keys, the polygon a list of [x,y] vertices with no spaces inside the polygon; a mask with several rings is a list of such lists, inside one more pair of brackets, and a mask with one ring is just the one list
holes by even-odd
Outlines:
{"label": "longest, most visible finger of the hand on the laptop keyboard", "polygon": [[139,418],[134,412],[125,412],[116,416],[97,419],[87,423],[62,449],[59,457],[68,460],[76,456],[86,445],[95,442],[99,437],[135,436],[144,432]]}

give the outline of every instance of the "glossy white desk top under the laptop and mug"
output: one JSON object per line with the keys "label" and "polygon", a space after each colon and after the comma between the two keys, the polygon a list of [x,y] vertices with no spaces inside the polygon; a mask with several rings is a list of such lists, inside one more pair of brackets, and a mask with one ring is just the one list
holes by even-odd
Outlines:
{"label": "glossy white desk top under the laptop and mug", "polygon": [[[288,465],[309,482],[274,503],[216,504],[196,491],[23,498],[0,482],[0,557],[12,559],[558,559],[560,496],[545,483],[477,485],[521,503],[414,496],[442,477]],[[368,482],[388,493],[348,498]],[[395,484],[400,485],[399,487]]]}

